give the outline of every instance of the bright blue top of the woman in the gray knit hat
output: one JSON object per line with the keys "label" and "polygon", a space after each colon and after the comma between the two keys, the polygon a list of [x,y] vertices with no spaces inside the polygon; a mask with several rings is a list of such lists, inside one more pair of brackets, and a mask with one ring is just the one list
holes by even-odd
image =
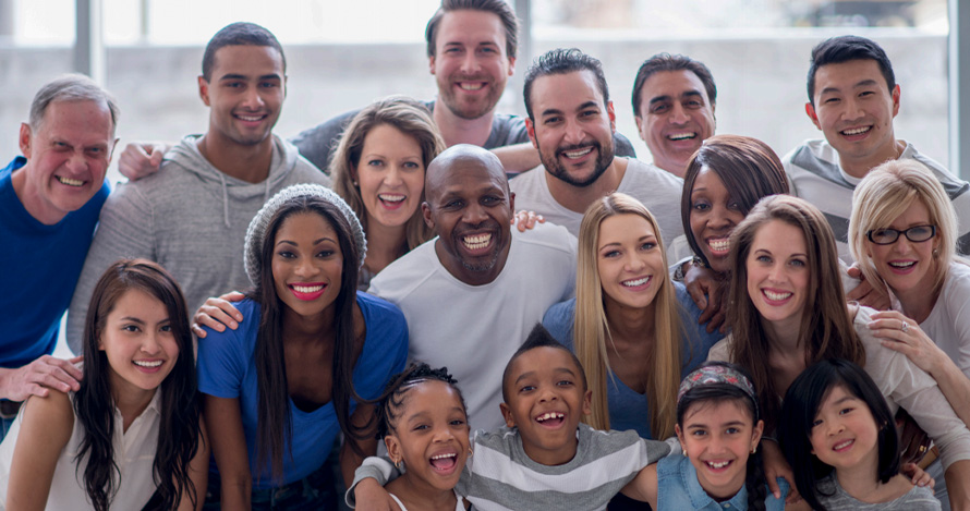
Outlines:
{"label": "bright blue top of the woman in the gray knit hat", "polygon": [[[391,375],[404,368],[408,358],[408,325],[401,311],[384,300],[357,292],[357,305],[364,314],[366,338],[354,365],[353,385],[364,399],[377,398]],[[259,305],[244,300],[237,305],[243,321],[237,330],[217,332],[206,328],[206,338],[198,343],[198,390],[209,396],[239,399],[243,431],[250,455],[253,489],[277,486],[269,463],[256,467],[257,401],[256,333],[259,327]],[[322,370],[330,370],[329,367]],[[340,433],[334,403],[304,412],[289,400],[293,437],[283,448],[292,458],[283,457],[283,480],[300,480],[327,460]],[[351,400],[350,411],[356,407]]]}

